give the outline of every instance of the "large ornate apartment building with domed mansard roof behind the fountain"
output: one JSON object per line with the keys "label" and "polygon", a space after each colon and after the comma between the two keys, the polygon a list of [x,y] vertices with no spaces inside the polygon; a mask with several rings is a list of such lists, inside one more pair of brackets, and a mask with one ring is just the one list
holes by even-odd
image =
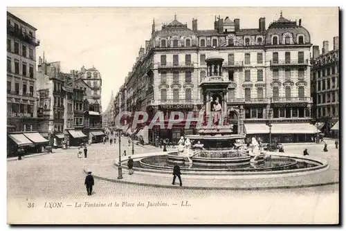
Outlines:
{"label": "large ornate apartment building with domed mansard roof behind the fountain", "polygon": [[[165,123],[171,111],[196,113],[205,103],[201,82],[210,76],[206,59],[218,53],[224,59],[221,75],[230,81],[223,110],[235,133],[279,142],[311,141],[317,129],[311,122],[309,31],[302,21],[282,17],[266,28],[241,28],[240,19],[215,17],[213,30],[192,30],[176,17],[155,30],[140,48],[132,71],[120,88],[115,107],[120,111],[141,109],[153,118],[162,111]],[[149,140],[157,136],[177,140],[196,133],[184,129],[185,122],[172,129],[149,129]],[[271,126],[269,127],[268,124]],[[289,133],[287,133],[289,131]]]}

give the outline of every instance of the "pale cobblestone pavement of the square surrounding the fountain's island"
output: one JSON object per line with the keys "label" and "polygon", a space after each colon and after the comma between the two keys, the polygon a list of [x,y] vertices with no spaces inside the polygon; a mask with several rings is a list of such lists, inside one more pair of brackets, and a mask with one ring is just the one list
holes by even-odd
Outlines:
{"label": "pale cobblestone pavement of the square surrounding the fountain's island", "polygon": [[[122,138],[122,150],[127,149],[131,153],[131,147],[127,146],[127,139]],[[307,148],[311,156],[324,158],[338,166],[338,150],[329,142],[329,152],[321,152],[323,145],[287,145],[287,153],[300,153]],[[25,198],[55,198],[73,199],[87,198],[84,187],[85,174],[83,169],[94,169],[100,165],[110,165],[118,156],[118,142],[116,145],[94,144],[88,147],[88,158],[77,158],[76,149],[57,149],[54,154],[26,158],[21,161],[8,161],[8,199]],[[140,147],[135,145],[136,153],[159,151],[156,147]],[[338,171],[338,168],[336,169]],[[117,172],[114,171],[117,175]],[[137,197],[147,198],[186,198],[205,196],[246,196],[264,195],[268,192],[280,196],[280,194],[329,194],[338,192],[338,185],[322,187],[309,187],[293,190],[262,190],[229,191],[229,190],[179,190],[172,188],[145,187],[139,185],[127,185],[111,183],[108,181],[95,182],[95,194],[93,198],[109,197]]]}

